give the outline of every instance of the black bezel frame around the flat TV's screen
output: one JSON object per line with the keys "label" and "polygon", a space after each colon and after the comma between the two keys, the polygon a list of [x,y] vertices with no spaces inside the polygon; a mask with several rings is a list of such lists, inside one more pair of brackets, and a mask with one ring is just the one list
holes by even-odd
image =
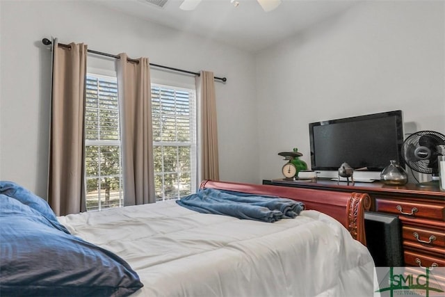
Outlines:
{"label": "black bezel frame around the flat TV's screen", "polygon": [[[337,123],[344,123],[344,122],[357,122],[361,120],[372,120],[372,119],[378,119],[378,118],[389,118],[389,117],[395,117],[396,118],[396,134],[397,134],[397,158],[396,161],[398,161],[401,166],[404,166],[405,162],[403,161],[403,157],[401,154],[401,148],[403,145],[403,112],[401,110],[397,111],[385,111],[382,113],[371,113],[367,115],[357,115],[349,118],[338,118],[334,120],[325,120],[320,122],[312,122],[309,123],[309,143],[310,143],[310,154],[311,154],[311,168],[312,170],[338,170],[339,167],[323,167],[323,166],[316,166],[315,161],[315,154],[314,154],[314,127],[321,126],[321,125],[332,125]],[[389,160],[388,160],[389,164]],[[340,166],[341,164],[339,164]],[[357,169],[357,168],[355,168]],[[381,171],[384,168],[371,168],[371,171]]]}

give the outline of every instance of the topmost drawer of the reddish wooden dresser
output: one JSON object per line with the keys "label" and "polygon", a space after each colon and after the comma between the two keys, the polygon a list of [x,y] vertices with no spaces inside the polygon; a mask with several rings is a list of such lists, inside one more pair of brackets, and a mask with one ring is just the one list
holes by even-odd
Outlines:
{"label": "topmost drawer of the reddish wooden dresser", "polygon": [[411,218],[445,219],[445,204],[412,203],[403,200],[375,199],[375,210]]}

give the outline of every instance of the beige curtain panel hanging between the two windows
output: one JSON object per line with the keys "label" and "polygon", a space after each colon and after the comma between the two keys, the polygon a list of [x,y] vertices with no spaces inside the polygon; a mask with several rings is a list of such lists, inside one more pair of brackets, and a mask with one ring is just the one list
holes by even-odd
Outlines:
{"label": "beige curtain panel hanging between the two windows", "polygon": [[124,205],[156,202],[152,132],[152,91],[148,58],[118,60],[118,90]]}

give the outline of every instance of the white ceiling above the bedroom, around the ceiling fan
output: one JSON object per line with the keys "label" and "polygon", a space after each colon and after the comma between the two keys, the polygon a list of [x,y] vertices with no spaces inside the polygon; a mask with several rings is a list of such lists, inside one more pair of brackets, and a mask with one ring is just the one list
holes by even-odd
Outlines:
{"label": "white ceiling above the bedroom, around the ceiling fan", "polygon": [[168,0],[163,8],[149,0],[95,1],[173,29],[259,51],[361,0],[282,0],[268,13],[257,0],[238,0],[238,7],[231,0],[202,0],[193,11],[181,10],[182,0]]}

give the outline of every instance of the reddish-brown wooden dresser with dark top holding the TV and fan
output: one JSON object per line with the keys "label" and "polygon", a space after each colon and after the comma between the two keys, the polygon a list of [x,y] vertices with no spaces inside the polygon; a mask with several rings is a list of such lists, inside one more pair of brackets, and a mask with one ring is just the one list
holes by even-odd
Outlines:
{"label": "reddish-brown wooden dresser with dark top holding the TV and fan", "polygon": [[387,186],[380,182],[347,184],[330,179],[272,179],[263,184],[368,193],[371,211],[396,214],[401,219],[405,266],[445,266],[445,192],[438,188],[420,188],[415,184]]}

